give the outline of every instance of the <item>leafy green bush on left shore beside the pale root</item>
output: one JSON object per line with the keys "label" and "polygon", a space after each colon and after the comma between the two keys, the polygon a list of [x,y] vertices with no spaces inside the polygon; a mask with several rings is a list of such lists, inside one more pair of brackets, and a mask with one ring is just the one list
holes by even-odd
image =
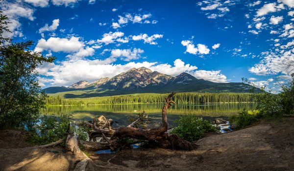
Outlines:
{"label": "leafy green bush on left shore beside the pale root", "polygon": [[44,115],[40,119],[40,124],[35,126],[35,134],[29,138],[33,144],[49,144],[59,139],[65,139],[68,132],[68,126],[72,121],[68,114],[60,116]]}

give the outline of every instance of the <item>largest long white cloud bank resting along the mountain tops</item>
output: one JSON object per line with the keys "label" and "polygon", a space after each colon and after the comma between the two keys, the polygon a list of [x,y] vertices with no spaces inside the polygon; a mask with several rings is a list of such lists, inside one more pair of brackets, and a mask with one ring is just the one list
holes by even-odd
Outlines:
{"label": "largest long white cloud bank resting along the mountain tops", "polygon": [[[121,52],[118,52],[116,57],[119,57],[121,54]],[[127,64],[112,64],[112,60],[116,57],[113,57],[112,59],[107,58],[105,60],[74,59],[62,61],[58,64],[46,63],[39,66],[37,69],[39,73],[43,75],[43,78],[49,76],[50,79],[41,78],[39,80],[41,84],[49,83],[49,86],[71,85],[80,80],[92,82],[98,80],[99,78],[112,78],[131,68],[144,66],[152,71],[158,71],[172,76],[179,75],[182,72],[187,72],[199,79],[221,83],[228,81],[226,80],[226,77],[220,73],[220,71],[196,70],[196,66],[185,64],[180,59],[173,61],[173,65],[157,64],[156,62],[129,62]]]}

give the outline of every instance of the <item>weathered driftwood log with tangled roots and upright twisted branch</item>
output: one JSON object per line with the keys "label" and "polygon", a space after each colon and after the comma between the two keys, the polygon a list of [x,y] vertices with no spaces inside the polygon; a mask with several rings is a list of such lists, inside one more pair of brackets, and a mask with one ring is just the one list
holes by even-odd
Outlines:
{"label": "weathered driftwood log with tangled roots and upright twisted branch", "polygon": [[[165,104],[162,107],[162,125],[159,128],[143,129],[134,128],[137,122],[140,121],[140,117],[127,127],[121,127],[118,129],[112,128],[110,119],[106,119],[104,116],[94,118],[93,123],[87,123],[90,129],[89,137],[94,142],[80,141],[80,144],[87,150],[117,150],[126,145],[130,145],[129,142],[123,141],[123,138],[133,138],[136,141],[146,140],[151,147],[160,147],[166,149],[176,150],[193,150],[196,149],[196,145],[186,140],[181,139],[175,134],[169,134],[168,130],[168,108],[175,104],[172,101],[172,96],[175,93],[172,92],[165,100]],[[110,139],[107,138],[110,137]],[[106,142],[96,142],[95,137],[102,137]]]}

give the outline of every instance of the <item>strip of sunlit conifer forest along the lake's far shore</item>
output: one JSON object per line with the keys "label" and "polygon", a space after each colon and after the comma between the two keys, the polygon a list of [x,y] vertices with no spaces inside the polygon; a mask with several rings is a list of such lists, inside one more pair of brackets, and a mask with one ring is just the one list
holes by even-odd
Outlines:
{"label": "strip of sunlit conifer forest along the lake's far shore", "polygon": [[[165,101],[168,94],[142,93],[118,96],[67,99],[49,96],[47,106],[53,105],[106,105],[106,104],[158,104]],[[256,103],[257,95],[250,93],[197,93],[181,92],[174,95],[177,104],[216,104],[216,103]]]}

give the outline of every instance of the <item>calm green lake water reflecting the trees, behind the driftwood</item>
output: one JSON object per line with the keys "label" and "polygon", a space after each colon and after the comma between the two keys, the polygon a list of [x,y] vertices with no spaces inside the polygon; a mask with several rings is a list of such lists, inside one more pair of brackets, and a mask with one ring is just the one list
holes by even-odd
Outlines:
{"label": "calm green lake water reflecting the trees, behind the driftwood", "polygon": [[[156,122],[161,121],[161,107],[163,104],[135,104],[135,105],[91,105],[91,106],[50,106],[42,110],[43,114],[61,113],[72,114],[74,120],[93,120],[94,117],[104,115],[116,121],[114,126],[126,126],[129,124],[128,117],[136,116],[140,111],[145,111],[148,117]],[[204,119],[214,119],[217,117],[228,118],[246,109],[255,109],[254,103],[234,103],[215,105],[173,105],[168,109],[169,125],[173,126],[173,121],[185,114],[196,114]]]}

